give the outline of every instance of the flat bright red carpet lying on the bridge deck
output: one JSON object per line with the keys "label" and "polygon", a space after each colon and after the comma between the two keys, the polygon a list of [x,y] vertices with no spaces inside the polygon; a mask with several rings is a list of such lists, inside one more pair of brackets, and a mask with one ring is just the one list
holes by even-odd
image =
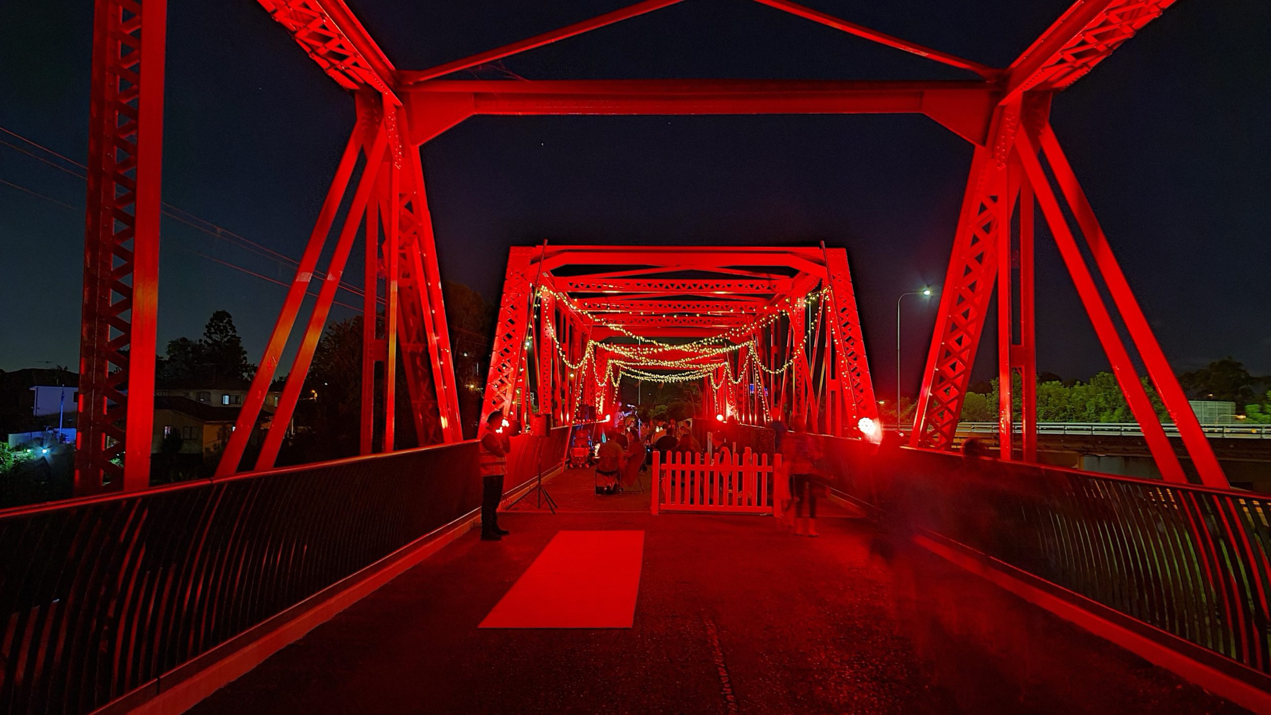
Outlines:
{"label": "flat bright red carpet lying on the bridge deck", "polygon": [[643,555],[643,531],[558,532],[479,627],[629,629]]}

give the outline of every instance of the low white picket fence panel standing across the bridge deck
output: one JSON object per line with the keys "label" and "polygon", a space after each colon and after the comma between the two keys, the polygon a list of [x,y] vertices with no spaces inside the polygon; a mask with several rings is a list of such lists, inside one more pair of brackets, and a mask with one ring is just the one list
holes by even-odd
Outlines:
{"label": "low white picket fence panel standing across the bridge deck", "polygon": [[740,455],[655,451],[651,511],[771,514],[769,488],[780,464],[780,455],[769,464],[749,447]]}

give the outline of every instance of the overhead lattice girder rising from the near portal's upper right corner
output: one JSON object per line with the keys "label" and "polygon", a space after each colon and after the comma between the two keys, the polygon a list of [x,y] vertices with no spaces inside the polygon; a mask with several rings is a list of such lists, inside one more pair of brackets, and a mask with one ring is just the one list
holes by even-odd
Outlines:
{"label": "overhead lattice girder rising from the near portal's upper right corner", "polygon": [[1064,89],[1174,0],[1078,0],[1008,67],[1003,103],[1030,89]]}

